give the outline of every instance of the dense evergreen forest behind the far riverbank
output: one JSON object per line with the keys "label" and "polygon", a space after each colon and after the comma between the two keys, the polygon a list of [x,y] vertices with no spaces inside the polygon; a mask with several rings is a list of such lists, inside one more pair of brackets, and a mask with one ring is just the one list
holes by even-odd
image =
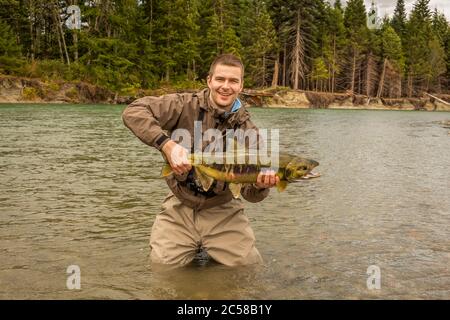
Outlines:
{"label": "dense evergreen forest behind the far riverbank", "polygon": [[363,0],[0,0],[0,74],[132,95],[202,87],[212,59],[234,53],[247,88],[448,94],[450,26],[429,1],[397,0],[369,29]]}

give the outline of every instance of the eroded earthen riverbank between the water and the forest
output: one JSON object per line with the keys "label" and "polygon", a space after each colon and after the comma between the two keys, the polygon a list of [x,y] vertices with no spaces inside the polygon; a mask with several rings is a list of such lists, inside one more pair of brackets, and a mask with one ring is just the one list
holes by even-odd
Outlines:
{"label": "eroded earthen riverbank between the water and the forest", "polygon": [[[129,104],[145,95],[161,95],[180,91],[175,88],[137,90],[132,95],[119,95],[86,82],[66,82],[0,75],[0,103],[95,103]],[[272,88],[246,89],[241,95],[249,107],[295,109],[367,109],[450,111],[450,95],[436,95],[438,100],[421,98],[377,99],[349,93],[325,93]],[[441,101],[439,101],[441,100]]]}

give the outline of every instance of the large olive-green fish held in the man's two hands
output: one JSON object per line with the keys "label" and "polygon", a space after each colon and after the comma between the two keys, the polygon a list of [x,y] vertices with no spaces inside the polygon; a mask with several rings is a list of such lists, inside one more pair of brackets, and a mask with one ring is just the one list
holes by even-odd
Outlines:
{"label": "large olive-green fish held in the man's two hands", "polygon": [[[236,161],[236,159],[245,159],[245,161]],[[249,161],[250,159],[255,161]],[[194,168],[196,181],[204,191],[211,188],[214,180],[223,181],[229,184],[229,189],[235,198],[239,197],[243,185],[256,183],[260,172],[272,169],[270,163],[263,163],[259,161],[259,157],[249,153],[237,155],[234,161],[228,163],[225,158],[217,161],[217,158],[205,157],[202,154],[191,154],[189,160]],[[289,183],[319,177],[319,173],[312,172],[318,165],[319,162],[312,159],[287,153],[280,154],[277,169],[272,169],[280,178],[276,185],[277,190],[282,192]],[[173,173],[170,165],[166,163],[162,168],[161,176],[167,177]]]}

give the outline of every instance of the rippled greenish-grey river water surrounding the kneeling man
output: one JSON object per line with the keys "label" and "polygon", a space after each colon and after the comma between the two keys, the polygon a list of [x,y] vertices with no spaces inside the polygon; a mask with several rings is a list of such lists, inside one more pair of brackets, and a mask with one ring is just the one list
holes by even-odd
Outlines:
{"label": "rippled greenish-grey river water surrounding the kneeling man", "polygon": [[322,177],[246,204],[263,265],[157,271],[163,161],[123,108],[0,106],[0,299],[450,299],[450,113],[251,109]]}

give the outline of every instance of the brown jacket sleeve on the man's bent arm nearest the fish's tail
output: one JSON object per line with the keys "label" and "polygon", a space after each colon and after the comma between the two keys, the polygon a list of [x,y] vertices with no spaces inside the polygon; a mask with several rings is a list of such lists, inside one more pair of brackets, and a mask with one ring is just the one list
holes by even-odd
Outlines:
{"label": "brown jacket sleeve on the man's bent arm nearest the fish's tail", "polygon": [[126,107],[122,119],[142,142],[161,150],[170,139],[164,131],[176,126],[183,105],[183,96],[179,94],[144,97]]}

